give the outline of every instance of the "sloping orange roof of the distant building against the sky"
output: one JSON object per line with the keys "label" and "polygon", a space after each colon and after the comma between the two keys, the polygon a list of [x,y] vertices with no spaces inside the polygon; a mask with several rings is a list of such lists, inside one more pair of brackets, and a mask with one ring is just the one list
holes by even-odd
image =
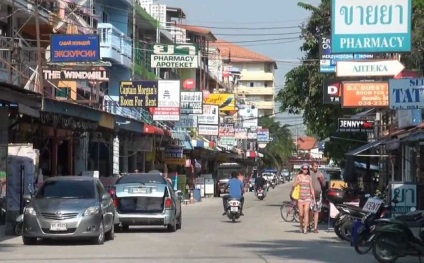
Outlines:
{"label": "sloping orange roof of the distant building against the sky", "polygon": [[221,56],[224,59],[231,58],[231,62],[269,62],[277,68],[275,60],[226,40],[218,39],[210,45],[219,48]]}

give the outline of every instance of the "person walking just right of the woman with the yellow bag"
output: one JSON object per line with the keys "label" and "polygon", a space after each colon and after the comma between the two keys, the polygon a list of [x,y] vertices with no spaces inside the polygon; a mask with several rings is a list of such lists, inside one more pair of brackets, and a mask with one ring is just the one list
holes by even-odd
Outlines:
{"label": "person walking just right of the woman with the yellow bag", "polygon": [[312,180],[312,186],[315,196],[315,203],[311,205],[310,219],[313,220],[313,232],[318,233],[318,219],[322,208],[322,188],[325,186],[324,175],[318,171],[318,163],[312,163],[312,169],[309,171]]}

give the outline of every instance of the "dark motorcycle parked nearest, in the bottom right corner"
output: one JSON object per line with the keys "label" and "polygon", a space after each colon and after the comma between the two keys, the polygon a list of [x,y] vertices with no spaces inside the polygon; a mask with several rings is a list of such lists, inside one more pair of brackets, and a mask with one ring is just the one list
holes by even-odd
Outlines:
{"label": "dark motorcycle parked nearest, in the bottom right corner", "polygon": [[424,254],[424,213],[414,211],[393,219],[379,219],[370,238],[374,258],[380,263],[394,263],[399,257]]}

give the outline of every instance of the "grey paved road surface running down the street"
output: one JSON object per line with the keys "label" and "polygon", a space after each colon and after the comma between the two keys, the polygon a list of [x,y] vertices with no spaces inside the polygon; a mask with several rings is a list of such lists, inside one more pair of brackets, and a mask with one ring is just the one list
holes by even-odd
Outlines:
{"label": "grey paved road surface running down the street", "polygon": [[238,223],[221,216],[220,199],[204,199],[183,207],[183,229],[176,233],[131,229],[103,246],[74,242],[23,246],[20,238],[11,238],[0,242],[0,262],[376,262],[371,255],[357,255],[325,226],[318,234],[302,235],[297,225],[283,222],[279,206],[288,192],[286,184],[271,190],[264,201],[247,194],[245,216]]}

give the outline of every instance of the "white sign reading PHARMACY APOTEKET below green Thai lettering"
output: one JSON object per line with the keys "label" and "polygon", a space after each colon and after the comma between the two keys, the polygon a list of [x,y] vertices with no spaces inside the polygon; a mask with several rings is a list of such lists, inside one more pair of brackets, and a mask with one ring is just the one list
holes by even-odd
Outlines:
{"label": "white sign reading PHARMACY APOTEKET below green Thai lettering", "polygon": [[152,68],[198,68],[197,47],[190,44],[153,45]]}

